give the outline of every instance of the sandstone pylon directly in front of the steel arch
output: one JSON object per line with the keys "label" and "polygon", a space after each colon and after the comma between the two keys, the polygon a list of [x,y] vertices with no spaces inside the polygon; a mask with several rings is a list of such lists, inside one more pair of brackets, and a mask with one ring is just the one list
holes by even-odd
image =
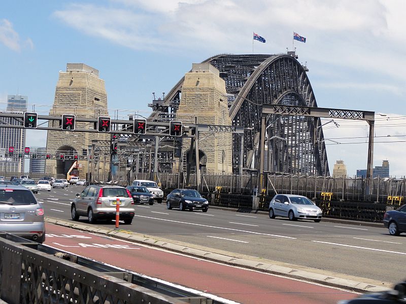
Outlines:
{"label": "sandstone pylon directly in front of the steel arch", "polygon": [[[197,124],[231,125],[225,82],[217,68],[209,63],[193,63],[185,74],[178,120],[197,118]],[[183,140],[183,160],[188,161],[190,139]],[[199,163],[202,172],[232,173],[232,134],[199,132]],[[195,169],[195,159],[190,164]]]}

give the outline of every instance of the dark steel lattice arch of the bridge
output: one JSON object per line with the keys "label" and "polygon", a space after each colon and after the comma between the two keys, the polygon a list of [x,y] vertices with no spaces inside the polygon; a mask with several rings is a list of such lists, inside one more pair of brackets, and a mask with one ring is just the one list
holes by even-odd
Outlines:
{"label": "dark steel lattice arch of the bridge", "polygon": [[[203,62],[209,62],[220,70],[220,77],[226,85],[232,125],[247,128],[243,137],[233,134],[235,173],[239,172],[240,159],[243,160],[244,169],[258,168],[260,156],[257,151],[263,104],[317,107],[306,74],[308,69],[294,58],[294,54],[221,54]],[[176,113],[183,81],[184,78],[165,96],[162,108],[157,108],[158,111]],[[329,175],[320,118],[268,115],[266,135],[265,171]],[[242,158],[241,140],[244,144]]]}

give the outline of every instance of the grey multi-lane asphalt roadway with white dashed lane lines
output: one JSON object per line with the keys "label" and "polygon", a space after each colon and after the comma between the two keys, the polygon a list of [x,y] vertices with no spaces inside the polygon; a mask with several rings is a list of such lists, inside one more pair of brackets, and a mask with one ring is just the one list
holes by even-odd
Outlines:
{"label": "grey multi-lane asphalt roadway with white dashed lane lines", "polygon": [[[82,186],[53,189],[37,196],[45,214],[71,220],[70,205]],[[79,222],[87,224],[87,218]],[[114,228],[114,222],[97,226]],[[131,225],[121,229],[149,236],[210,247],[215,250],[279,261],[350,278],[396,283],[404,279],[399,267],[406,255],[406,237],[389,236],[382,226],[353,225],[322,220],[270,219],[265,214],[209,208],[181,212],[165,204],[136,205]]]}

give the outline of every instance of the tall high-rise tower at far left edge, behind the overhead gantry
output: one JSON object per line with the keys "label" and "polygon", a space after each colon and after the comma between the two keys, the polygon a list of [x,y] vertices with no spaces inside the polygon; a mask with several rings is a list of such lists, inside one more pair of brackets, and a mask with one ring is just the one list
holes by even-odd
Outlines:
{"label": "tall high-rise tower at far left edge, behind the overhead gantry", "polygon": [[[23,113],[27,110],[27,96],[8,95],[7,108],[2,112]],[[1,113],[0,113],[1,117]],[[7,125],[20,125],[20,123],[10,117],[1,118]],[[18,153],[23,152],[25,146],[25,130],[17,128],[0,128],[0,155],[9,153],[9,148],[14,148],[13,156],[0,158],[0,171],[24,172],[24,159],[18,158]]]}

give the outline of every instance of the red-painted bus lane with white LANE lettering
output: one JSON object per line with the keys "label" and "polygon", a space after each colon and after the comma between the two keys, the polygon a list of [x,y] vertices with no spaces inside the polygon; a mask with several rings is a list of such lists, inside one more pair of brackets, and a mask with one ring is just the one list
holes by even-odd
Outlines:
{"label": "red-painted bus lane with white LANE lettering", "polygon": [[46,223],[45,244],[240,303],[337,303],[357,294]]}

